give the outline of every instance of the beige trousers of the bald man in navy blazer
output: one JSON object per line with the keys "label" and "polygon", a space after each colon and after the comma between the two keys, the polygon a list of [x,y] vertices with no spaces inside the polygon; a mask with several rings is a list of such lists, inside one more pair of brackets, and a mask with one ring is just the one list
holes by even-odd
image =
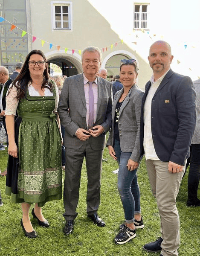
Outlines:
{"label": "beige trousers of the bald man in navy blazer", "polygon": [[177,256],[180,244],[179,215],[176,198],[185,168],[179,173],[168,172],[168,162],[146,160],[146,166],[161,219],[163,256]]}

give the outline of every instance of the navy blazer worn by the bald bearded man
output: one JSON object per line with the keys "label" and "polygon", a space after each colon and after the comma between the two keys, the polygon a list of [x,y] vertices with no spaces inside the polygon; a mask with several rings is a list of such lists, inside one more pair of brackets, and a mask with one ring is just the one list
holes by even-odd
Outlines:
{"label": "navy blazer worn by the bald bearded man", "polygon": [[[140,123],[140,148],[144,154],[144,103],[151,82],[145,85]],[[184,165],[190,155],[196,124],[196,92],[188,76],[171,69],[160,83],[151,102],[151,132],[157,156],[163,162]]]}

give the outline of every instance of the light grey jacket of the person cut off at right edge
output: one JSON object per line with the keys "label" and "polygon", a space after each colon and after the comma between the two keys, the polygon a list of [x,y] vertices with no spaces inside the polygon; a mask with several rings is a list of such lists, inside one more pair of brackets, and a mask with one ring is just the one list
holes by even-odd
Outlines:
{"label": "light grey jacket of the person cut off at right edge", "polygon": [[191,139],[191,144],[200,144],[200,79],[194,81],[193,83],[197,93],[197,105],[196,105],[197,121],[196,121],[194,134]]}

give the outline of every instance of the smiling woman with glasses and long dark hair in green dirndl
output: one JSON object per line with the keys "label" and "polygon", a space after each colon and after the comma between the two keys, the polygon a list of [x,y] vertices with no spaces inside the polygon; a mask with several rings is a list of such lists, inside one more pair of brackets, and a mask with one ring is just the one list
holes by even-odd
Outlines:
{"label": "smiling woman with glasses and long dark hair in green dirndl", "polygon": [[49,227],[41,207],[62,197],[57,106],[58,88],[49,79],[45,55],[33,50],[9,89],[5,113],[9,140],[6,195],[11,195],[12,203],[21,204],[21,226],[25,236],[31,238],[37,236],[29,218],[31,204],[35,204],[32,215],[38,224]]}

